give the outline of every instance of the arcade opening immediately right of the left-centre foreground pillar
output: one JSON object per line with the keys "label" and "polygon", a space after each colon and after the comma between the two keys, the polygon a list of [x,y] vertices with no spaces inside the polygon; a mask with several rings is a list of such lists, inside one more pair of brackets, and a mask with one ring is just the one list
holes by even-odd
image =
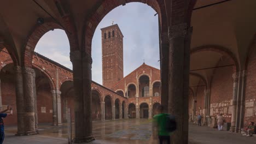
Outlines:
{"label": "arcade opening immediately right of the left-centre foreground pillar", "polygon": [[93,89],[91,91],[91,118],[92,121],[101,120],[101,95]]}

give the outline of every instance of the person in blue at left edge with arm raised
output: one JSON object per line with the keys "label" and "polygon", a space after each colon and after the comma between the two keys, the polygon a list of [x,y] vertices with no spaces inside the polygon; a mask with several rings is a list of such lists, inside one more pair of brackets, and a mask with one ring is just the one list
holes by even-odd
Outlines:
{"label": "person in blue at left edge with arm raised", "polygon": [[[9,112],[7,112],[9,111]],[[4,122],[3,118],[13,115],[12,107],[7,106],[7,109],[0,112],[0,144],[4,141]]]}

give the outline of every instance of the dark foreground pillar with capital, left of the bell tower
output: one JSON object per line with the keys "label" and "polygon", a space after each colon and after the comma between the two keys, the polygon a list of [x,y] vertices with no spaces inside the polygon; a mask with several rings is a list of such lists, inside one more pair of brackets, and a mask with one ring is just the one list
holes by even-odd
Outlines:
{"label": "dark foreground pillar with capital, left of the bell tower", "polygon": [[74,83],[74,139],[75,143],[90,142],[92,137],[91,119],[91,63],[88,53],[80,51],[70,52],[73,64]]}

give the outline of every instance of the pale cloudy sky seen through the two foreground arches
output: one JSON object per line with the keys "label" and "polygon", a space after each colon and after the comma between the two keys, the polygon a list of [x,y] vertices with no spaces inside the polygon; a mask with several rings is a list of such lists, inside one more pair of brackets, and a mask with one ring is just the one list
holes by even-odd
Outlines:
{"label": "pale cloudy sky seen through the two foreground arches", "polygon": [[[108,13],[92,39],[92,80],[102,84],[101,28],[117,23],[124,34],[124,76],[143,63],[160,68],[158,15],[146,4],[129,3]],[[43,35],[36,52],[72,69],[67,35],[55,29]]]}

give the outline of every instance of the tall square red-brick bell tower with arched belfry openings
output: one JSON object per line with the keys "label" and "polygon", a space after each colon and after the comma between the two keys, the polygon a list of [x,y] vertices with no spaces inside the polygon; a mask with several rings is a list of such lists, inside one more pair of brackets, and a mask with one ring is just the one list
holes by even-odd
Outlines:
{"label": "tall square red-brick bell tower with arched belfry openings", "polygon": [[117,24],[101,28],[103,86],[112,88],[124,77],[123,34]]}

